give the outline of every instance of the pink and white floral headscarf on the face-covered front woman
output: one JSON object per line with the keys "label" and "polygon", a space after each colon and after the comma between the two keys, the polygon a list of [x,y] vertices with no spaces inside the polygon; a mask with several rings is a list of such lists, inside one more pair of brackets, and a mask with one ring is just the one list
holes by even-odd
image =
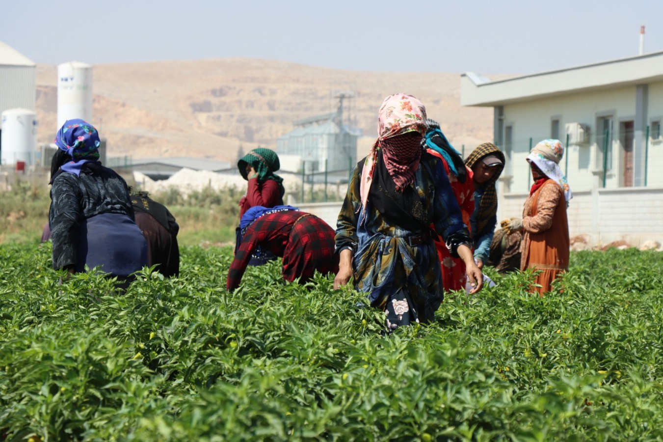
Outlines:
{"label": "pink and white floral headscarf on the face-covered front woman", "polygon": [[427,128],[426,107],[422,102],[409,94],[394,94],[385,98],[378,111],[378,138],[373,143],[361,172],[359,187],[362,207],[366,206],[368,200],[377,153],[381,149],[383,141],[412,131],[424,135]]}

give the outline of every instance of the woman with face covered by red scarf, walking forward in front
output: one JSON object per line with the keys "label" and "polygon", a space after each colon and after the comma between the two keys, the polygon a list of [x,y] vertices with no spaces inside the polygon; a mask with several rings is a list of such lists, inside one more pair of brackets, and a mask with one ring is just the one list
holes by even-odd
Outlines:
{"label": "woman with face covered by red scarf, walking forward in front", "polygon": [[338,216],[334,287],[354,277],[355,288],[386,312],[391,330],[432,321],[442,303],[435,232],[465,261],[472,293],[483,276],[442,162],[422,148],[424,105],[407,94],[389,96],[378,121],[379,137],[357,163]]}

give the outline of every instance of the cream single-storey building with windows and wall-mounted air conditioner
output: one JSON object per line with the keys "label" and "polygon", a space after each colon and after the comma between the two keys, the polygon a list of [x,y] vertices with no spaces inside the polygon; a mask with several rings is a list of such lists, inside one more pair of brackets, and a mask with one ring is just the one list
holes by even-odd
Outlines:
{"label": "cream single-storey building with windows and wall-mounted air conditioner", "polygon": [[461,104],[494,109],[507,157],[498,216],[522,214],[530,147],[556,138],[567,148],[572,236],[663,243],[663,52],[498,81],[467,72]]}

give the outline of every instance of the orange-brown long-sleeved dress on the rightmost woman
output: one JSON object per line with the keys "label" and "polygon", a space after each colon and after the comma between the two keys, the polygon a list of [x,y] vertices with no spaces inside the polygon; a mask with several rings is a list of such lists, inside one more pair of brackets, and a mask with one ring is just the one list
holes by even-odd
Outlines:
{"label": "orange-brown long-sleeved dress on the rightmost woman", "polygon": [[525,201],[522,211],[522,257],[520,269],[539,271],[533,291],[543,296],[552,281],[569,268],[569,224],[564,192],[548,180]]}

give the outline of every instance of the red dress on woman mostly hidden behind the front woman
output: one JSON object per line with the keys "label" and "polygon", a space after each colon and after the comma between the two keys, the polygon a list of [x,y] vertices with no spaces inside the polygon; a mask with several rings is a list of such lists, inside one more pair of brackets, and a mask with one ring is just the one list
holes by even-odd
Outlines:
{"label": "red dress on woman mostly hidden behind the front woman", "polygon": [[[458,181],[457,177],[453,175],[453,172],[442,155],[433,149],[426,149],[426,151],[442,160],[444,171],[449,179],[449,184],[452,186],[453,195],[455,196],[461,214],[463,215],[463,224],[467,226],[467,231],[469,232],[469,217],[472,216],[472,213],[474,212],[474,181],[472,169],[465,167],[467,179],[465,179],[465,183],[461,183]],[[471,234],[471,232],[469,233]],[[452,258],[447,245],[442,240],[435,242],[435,248],[438,251],[438,258],[440,258],[440,266],[442,267],[442,286],[444,287],[444,291],[464,290],[466,274],[465,263],[463,260],[460,258]]]}

